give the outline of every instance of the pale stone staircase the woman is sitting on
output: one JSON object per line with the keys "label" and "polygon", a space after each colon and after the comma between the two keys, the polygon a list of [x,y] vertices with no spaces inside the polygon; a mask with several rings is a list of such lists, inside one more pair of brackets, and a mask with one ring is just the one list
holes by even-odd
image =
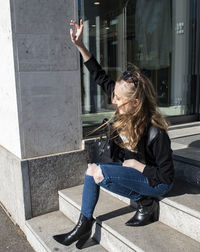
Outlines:
{"label": "pale stone staircase the woman is sitting on", "polygon": [[[144,227],[124,223],[134,214],[130,200],[101,189],[95,208],[93,239],[83,251],[200,251],[200,123],[173,126],[169,130],[177,180],[160,198],[159,221]],[[81,209],[83,185],[59,191],[59,211],[26,221],[26,236],[37,252],[79,251],[55,242],[52,235],[70,231]]]}

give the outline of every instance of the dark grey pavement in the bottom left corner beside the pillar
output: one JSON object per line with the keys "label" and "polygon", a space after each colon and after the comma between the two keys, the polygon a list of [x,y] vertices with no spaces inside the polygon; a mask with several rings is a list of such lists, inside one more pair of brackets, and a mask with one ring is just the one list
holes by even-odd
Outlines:
{"label": "dark grey pavement in the bottom left corner beside the pillar", "polygon": [[0,252],[34,252],[24,233],[15,226],[0,206]]}

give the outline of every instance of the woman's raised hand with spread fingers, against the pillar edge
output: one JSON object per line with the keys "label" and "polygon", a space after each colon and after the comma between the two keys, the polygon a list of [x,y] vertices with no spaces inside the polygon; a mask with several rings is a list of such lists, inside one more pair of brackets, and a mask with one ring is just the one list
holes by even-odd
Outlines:
{"label": "woman's raised hand with spread fingers, against the pillar edge", "polygon": [[80,25],[78,25],[74,20],[71,20],[70,25],[76,28],[74,31],[70,28],[71,40],[76,46],[82,45],[82,34],[83,34],[83,20],[80,20]]}

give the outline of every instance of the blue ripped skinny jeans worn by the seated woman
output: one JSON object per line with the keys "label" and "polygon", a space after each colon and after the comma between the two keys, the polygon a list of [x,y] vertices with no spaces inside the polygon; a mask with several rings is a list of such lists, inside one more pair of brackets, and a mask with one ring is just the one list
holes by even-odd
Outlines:
{"label": "blue ripped skinny jeans worn by the seated woman", "polygon": [[104,179],[96,183],[93,176],[85,174],[81,213],[88,219],[93,216],[99,198],[100,186],[110,192],[137,201],[142,196],[158,197],[171,190],[173,183],[149,185],[148,179],[134,168],[122,166],[122,162],[96,163],[101,167]]}

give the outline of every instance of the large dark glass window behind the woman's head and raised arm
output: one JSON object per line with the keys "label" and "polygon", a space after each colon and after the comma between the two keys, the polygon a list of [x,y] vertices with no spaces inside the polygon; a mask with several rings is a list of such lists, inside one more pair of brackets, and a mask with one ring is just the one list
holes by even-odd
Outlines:
{"label": "large dark glass window behind the woman's head and raised arm", "polygon": [[[116,80],[127,64],[145,71],[166,116],[191,114],[189,1],[79,0],[83,40]],[[115,107],[82,64],[83,125],[101,123]]]}

